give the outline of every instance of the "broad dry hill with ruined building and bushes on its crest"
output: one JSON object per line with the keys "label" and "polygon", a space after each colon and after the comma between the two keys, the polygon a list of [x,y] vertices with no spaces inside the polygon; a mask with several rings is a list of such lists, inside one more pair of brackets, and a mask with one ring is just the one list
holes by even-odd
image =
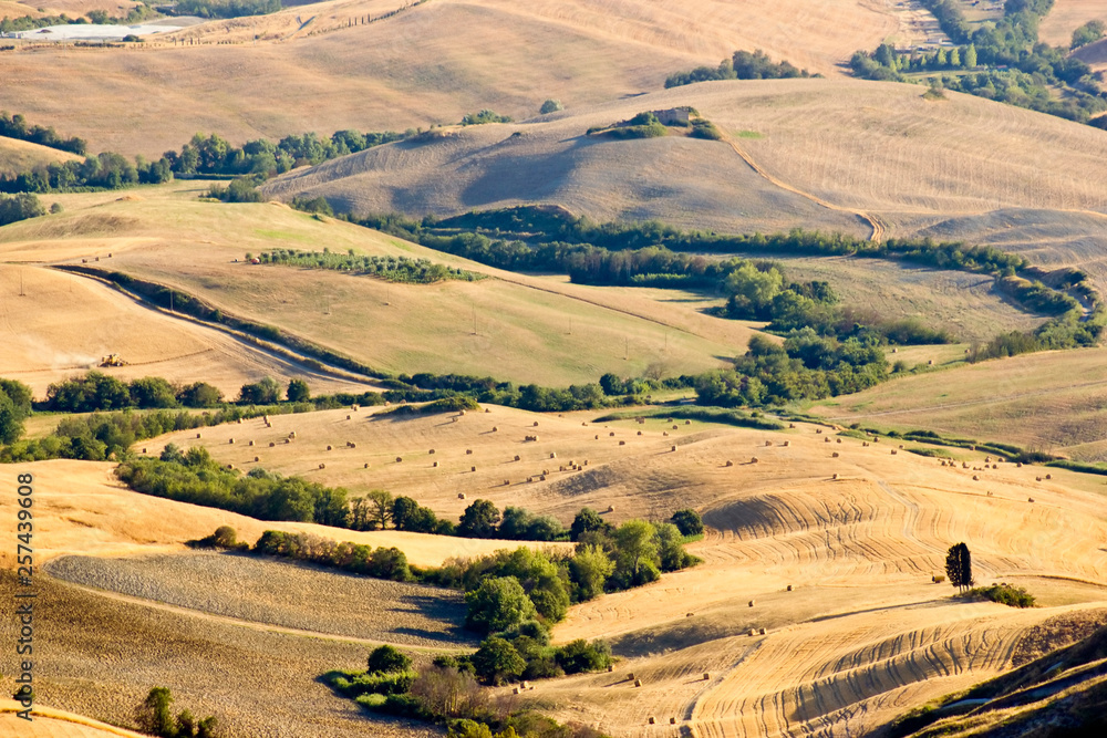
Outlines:
{"label": "broad dry hill with ruined building and bushes on its crest", "polygon": [[[691,105],[730,142],[612,141],[593,126]],[[736,147],[736,148],[735,148]],[[1003,157],[990,152],[1002,149]],[[1080,264],[1103,279],[1101,131],[914,85],[712,82],[516,124],[447,128],[289,173],[281,198],[354,211],[458,214],[555,202],[596,219],[659,218],[728,232],[793,226],[930,235]]]}

